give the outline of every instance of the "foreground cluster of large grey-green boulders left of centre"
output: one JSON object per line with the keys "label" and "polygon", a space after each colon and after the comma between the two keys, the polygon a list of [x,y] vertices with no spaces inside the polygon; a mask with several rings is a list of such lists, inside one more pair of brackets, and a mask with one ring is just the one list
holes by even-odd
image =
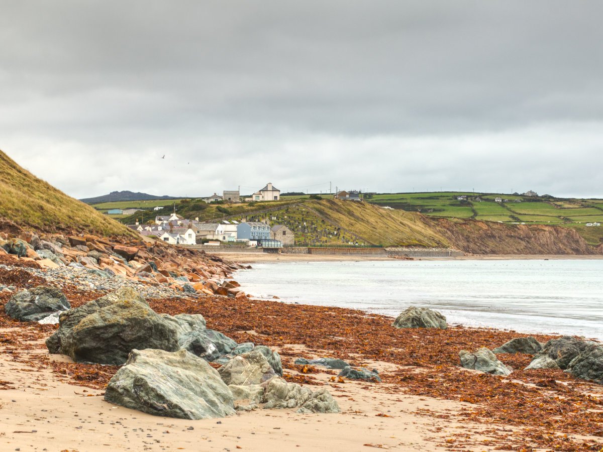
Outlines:
{"label": "foreground cluster of large grey-green boulders left of centre", "polygon": [[[154,312],[123,287],[63,312],[46,341],[50,353],[78,362],[125,365],[107,386],[107,401],[160,416],[221,417],[236,408],[339,412],[328,391],[287,383],[280,356],[264,345],[237,344],[208,330],[201,315]],[[208,362],[223,363],[216,371]]]}

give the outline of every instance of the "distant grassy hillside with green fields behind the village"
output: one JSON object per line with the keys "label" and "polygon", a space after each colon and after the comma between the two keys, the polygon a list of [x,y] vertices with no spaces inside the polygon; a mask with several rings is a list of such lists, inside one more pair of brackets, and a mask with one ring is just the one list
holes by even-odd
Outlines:
{"label": "distant grassy hillside with green fields behind the village", "polygon": [[[467,196],[467,199],[457,199],[461,195]],[[496,202],[495,198],[498,197],[507,202]],[[300,195],[281,201],[241,204],[206,204],[199,199],[181,199],[177,201],[176,210],[185,218],[199,218],[201,221],[247,218],[248,221],[268,221],[271,225],[285,224],[294,231],[297,245],[455,246],[456,242],[462,242],[468,248],[467,238],[461,238],[462,234],[450,236],[439,226],[444,223],[426,221],[426,218],[459,219],[461,222],[447,223],[453,228],[458,228],[464,220],[484,221],[490,225],[502,223],[510,227],[561,226],[576,231],[590,245],[603,242],[603,227],[587,226],[589,223],[603,223],[601,199],[461,192],[383,193],[367,196],[365,202],[324,198],[318,201],[308,195]],[[143,204],[144,202],[148,204]],[[140,222],[152,221],[156,215],[168,215],[172,212],[173,206],[169,205],[159,212],[153,211],[151,204],[155,202],[157,201],[128,202],[128,206],[114,202],[96,204],[94,207],[147,209],[121,219],[127,224],[134,223],[137,219]],[[501,238],[505,234],[517,233],[517,230],[505,228],[496,228],[496,231]],[[474,232],[472,234],[475,236]],[[516,243],[528,240],[526,237],[528,235],[519,234]],[[559,237],[573,236],[561,234]],[[480,240],[485,239],[482,237]],[[507,247],[510,248],[511,245]]]}

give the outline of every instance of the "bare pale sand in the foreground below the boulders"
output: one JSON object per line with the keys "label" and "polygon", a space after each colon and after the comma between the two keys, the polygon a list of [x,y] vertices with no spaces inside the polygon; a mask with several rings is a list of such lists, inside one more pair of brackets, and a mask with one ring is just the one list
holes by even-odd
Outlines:
{"label": "bare pale sand in the foreground below the boulders", "polygon": [[[342,413],[299,415],[294,410],[256,410],[230,418],[189,421],[151,416],[103,400],[103,391],[70,385],[39,362],[47,356],[40,341],[17,360],[2,353],[2,378],[15,389],[0,391],[2,450],[34,451],[361,451],[371,447],[400,451],[435,450],[435,442],[471,431],[479,444],[483,427],[446,418],[470,404],[400,395],[394,385],[371,388],[354,381],[329,383],[329,374],[314,374],[335,395]],[[40,346],[40,347],[39,347]],[[5,352],[5,350],[3,350]],[[36,356],[37,355],[37,356]],[[51,360],[69,362],[63,356]],[[392,369],[375,363],[382,372]],[[429,414],[421,414],[428,412]],[[484,437],[485,439],[486,437]],[[435,442],[434,442],[435,441]],[[484,447],[481,450],[493,450]]]}

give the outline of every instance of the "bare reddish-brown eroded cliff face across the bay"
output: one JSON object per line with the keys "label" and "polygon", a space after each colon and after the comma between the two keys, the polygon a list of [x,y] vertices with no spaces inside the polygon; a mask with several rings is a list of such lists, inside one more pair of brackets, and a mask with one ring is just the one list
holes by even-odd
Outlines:
{"label": "bare reddish-brown eroded cliff face across the bay", "polygon": [[590,246],[575,230],[549,225],[424,218],[450,244],[472,254],[603,254],[603,245]]}

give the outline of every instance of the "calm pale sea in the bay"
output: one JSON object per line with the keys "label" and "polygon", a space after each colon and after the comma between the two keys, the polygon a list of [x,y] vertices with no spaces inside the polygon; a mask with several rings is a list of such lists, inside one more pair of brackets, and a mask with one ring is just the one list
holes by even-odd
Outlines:
{"label": "calm pale sea in the bay", "polygon": [[603,339],[603,260],[260,263],[235,278],[287,303],[391,316],[415,305],[452,325]]}

